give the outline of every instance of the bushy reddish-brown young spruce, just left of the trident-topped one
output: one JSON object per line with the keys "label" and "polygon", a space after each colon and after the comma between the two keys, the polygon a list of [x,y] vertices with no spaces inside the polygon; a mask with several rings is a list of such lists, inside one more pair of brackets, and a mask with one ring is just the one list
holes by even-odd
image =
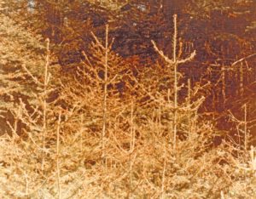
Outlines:
{"label": "bushy reddish-brown young spruce, just left of the trident-topped one", "polygon": [[108,26],[104,39],[93,32],[91,37],[93,42],[88,51],[82,52],[80,63],[74,68],[75,74],[63,77],[61,98],[69,112],[68,122],[64,124],[66,129],[77,131],[81,128],[77,121],[83,117],[84,129],[96,135],[101,132],[101,150],[97,155],[105,164],[106,159],[112,158],[107,154],[109,135],[112,134],[110,128],[117,124],[115,120],[120,115],[130,114],[131,91],[136,81],[131,71],[132,65],[125,63],[112,51],[113,40],[108,38]]}

